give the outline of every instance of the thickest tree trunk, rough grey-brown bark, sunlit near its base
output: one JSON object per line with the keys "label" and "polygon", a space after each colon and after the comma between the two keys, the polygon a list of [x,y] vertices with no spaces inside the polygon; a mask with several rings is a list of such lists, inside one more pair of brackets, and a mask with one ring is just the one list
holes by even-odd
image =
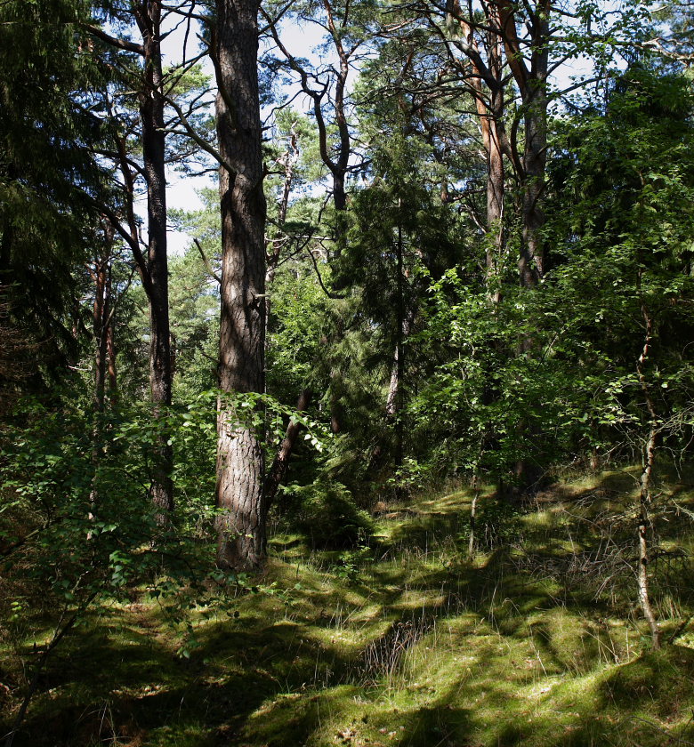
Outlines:
{"label": "thickest tree trunk, rough grey-brown bark, sunlit near its base", "polygon": [[[217,0],[217,137],[222,208],[219,384],[265,389],[265,198],[258,96],[257,0]],[[217,563],[252,570],[265,556],[264,454],[254,426],[220,398],[217,417]]]}

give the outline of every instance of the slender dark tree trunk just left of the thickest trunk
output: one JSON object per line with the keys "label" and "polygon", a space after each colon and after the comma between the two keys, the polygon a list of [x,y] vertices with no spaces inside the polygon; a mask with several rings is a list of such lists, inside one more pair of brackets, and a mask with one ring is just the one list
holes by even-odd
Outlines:
{"label": "slender dark tree trunk just left of the thickest trunk", "polygon": [[[172,369],[166,257],[166,176],[164,96],[160,48],[161,0],[144,0],[135,13],[144,48],[144,87],[140,97],[142,158],[147,181],[149,229],[149,389],[155,416],[171,405]],[[160,406],[162,409],[159,409]],[[157,521],[173,510],[173,451],[165,435],[157,438],[150,494]]]}

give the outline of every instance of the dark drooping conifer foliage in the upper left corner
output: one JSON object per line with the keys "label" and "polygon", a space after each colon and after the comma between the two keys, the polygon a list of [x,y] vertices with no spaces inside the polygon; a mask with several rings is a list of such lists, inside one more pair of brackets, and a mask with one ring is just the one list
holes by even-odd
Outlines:
{"label": "dark drooping conifer foliage in the upper left corner", "polygon": [[[94,156],[107,128],[92,91],[104,70],[81,47],[75,0],[0,6],[0,284],[54,378],[74,359],[82,263],[99,242],[99,198],[117,206]],[[41,377],[35,377],[36,385]]]}

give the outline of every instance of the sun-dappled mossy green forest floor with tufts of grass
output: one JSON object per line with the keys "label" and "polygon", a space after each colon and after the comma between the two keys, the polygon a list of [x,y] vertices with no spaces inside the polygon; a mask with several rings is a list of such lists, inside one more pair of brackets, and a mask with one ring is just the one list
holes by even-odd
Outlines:
{"label": "sun-dappled mossy green forest floor with tufts of grass", "polygon": [[472,559],[470,490],[379,505],[357,550],[277,531],[264,590],[192,613],[190,658],[148,598],[94,613],[56,649],[14,745],[694,744],[694,488],[673,478],[654,504],[666,643],[652,651],[635,474],[557,483],[525,511],[482,492]]}

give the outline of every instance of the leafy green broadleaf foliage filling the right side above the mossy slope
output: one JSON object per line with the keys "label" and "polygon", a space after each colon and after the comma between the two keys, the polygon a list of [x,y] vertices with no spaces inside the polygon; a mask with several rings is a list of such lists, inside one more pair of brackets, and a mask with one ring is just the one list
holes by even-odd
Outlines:
{"label": "leafy green broadleaf foliage filling the right side above the mossy slope", "polygon": [[493,301],[465,265],[432,277],[419,344],[440,363],[410,417],[415,442],[436,446],[420,460],[512,482],[518,462],[545,471],[591,449],[639,454],[653,422],[636,367],[646,317],[653,424],[666,446],[686,446],[690,108],[681,77],[633,68],[604,114],[559,123],[545,226],[551,269],[537,288],[503,285]]}

